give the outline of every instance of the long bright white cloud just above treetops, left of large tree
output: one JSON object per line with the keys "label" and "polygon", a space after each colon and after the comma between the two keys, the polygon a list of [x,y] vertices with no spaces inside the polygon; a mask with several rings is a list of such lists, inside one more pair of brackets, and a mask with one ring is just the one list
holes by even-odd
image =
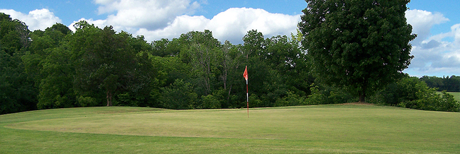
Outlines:
{"label": "long bright white cloud just above treetops, left of large tree", "polygon": [[179,37],[180,34],[191,30],[211,30],[214,37],[224,42],[242,43],[241,38],[249,30],[258,30],[265,36],[290,35],[297,32],[297,23],[300,15],[289,16],[279,13],[269,13],[263,9],[255,8],[229,8],[217,14],[212,19],[204,16],[178,16],[160,30],[138,30],[136,35],[146,35],[146,39],[159,40],[160,38]]}

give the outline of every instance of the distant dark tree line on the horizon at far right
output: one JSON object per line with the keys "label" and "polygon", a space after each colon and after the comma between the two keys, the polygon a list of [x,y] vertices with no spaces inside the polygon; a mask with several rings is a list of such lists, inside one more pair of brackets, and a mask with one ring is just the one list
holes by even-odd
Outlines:
{"label": "distant dark tree line on the horizon at far right", "polygon": [[439,91],[460,92],[460,76],[422,76],[421,81],[425,81],[430,88],[437,88]]}

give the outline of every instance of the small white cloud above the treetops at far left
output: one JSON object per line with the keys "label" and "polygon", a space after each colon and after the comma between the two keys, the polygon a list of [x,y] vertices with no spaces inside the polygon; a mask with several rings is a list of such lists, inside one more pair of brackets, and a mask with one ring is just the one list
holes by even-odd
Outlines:
{"label": "small white cloud above the treetops at far left", "polygon": [[0,12],[9,14],[13,19],[23,21],[28,25],[29,30],[45,30],[55,23],[62,22],[60,18],[57,18],[53,12],[46,8],[30,11],[28,14],[7,9],[0,9]]}

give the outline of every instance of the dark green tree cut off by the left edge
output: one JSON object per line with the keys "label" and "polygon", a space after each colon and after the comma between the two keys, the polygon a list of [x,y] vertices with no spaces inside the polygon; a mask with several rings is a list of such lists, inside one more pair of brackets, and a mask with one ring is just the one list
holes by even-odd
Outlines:
{"label": "dark green tree cut off by the left edge", "polygon": [[25,23],[0,13],[0,114],[36,109],[38,90],[21,59],[29,33]]}

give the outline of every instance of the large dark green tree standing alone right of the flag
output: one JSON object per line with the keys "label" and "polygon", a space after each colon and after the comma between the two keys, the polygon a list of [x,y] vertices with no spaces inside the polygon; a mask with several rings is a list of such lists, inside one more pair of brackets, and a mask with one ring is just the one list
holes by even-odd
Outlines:
{"label": "large dark green tree standing alone right of the flag", "polygon": [[307,0],[299,28],[320,81],[366,94],[401,77],[410,60],[410,0]]}

